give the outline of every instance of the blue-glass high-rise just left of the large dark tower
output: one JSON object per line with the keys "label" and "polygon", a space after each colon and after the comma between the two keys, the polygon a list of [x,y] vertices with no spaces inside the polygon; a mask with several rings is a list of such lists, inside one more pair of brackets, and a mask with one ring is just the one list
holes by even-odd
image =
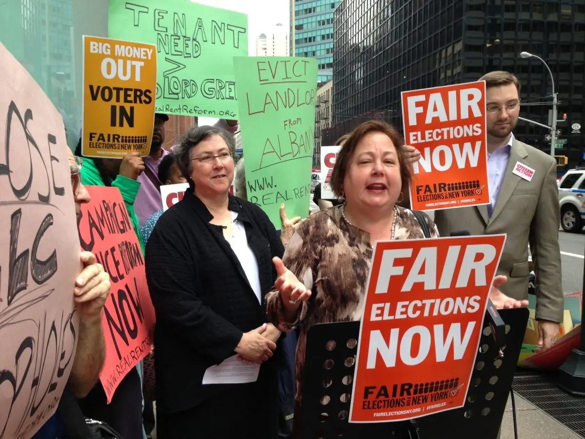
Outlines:
{"label": "blue-glass high-rise just left of the large dark tower", "polygon": [[333,11],[339,0],[290,0],[291,54],[318,61],[318,82],[333,78]]}

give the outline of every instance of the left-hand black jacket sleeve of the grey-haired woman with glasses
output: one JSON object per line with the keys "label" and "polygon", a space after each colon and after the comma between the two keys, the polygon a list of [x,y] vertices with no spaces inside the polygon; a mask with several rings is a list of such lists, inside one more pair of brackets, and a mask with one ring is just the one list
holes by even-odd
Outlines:
{"label": "left-hand black jacket sleeve of the grey-haired woman with glasses", "polygon": [[146,246],[146,280],[157,323],[219,364],[233,355],[243,332],[197,297],[194,255],[181,234],[181,225],[163,215]]}

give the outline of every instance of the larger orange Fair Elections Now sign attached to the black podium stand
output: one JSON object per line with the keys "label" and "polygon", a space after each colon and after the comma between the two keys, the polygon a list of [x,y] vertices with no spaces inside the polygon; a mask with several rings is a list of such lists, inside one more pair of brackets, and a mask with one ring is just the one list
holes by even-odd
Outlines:
{"label": "larger orange Fair Elections Now sign attached to the black podium stand", "polygon": [[505,235],[376,242],[349,421],[463,407]]}

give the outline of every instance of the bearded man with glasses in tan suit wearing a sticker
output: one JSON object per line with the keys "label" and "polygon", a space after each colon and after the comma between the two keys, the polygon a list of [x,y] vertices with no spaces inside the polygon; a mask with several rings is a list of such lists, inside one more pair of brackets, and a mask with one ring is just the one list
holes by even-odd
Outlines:
{"label": "bearded man with glasses in tan suit wearing a sticker", "polygon": [[536,274],[539,344],[549,348],[559,333],[564,308],[556,161],[512,134],[520,109],[518,78],[493,71],[480,81],[486,81],[487,89],[491,204],[438,210],[435,223],[441,236],[457,230],[469,230],[472,235],[507,234],[497,274],[508,277],[500,289],[514,299],[528,296],[530,245]]}

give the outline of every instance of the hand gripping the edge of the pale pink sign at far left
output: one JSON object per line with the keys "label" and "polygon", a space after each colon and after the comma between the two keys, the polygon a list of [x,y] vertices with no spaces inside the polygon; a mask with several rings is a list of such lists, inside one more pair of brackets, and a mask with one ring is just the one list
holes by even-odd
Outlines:
{"label": "hand gripping the edge of the pale pink sign at far left", "polygon": [[95,263],[95,255],[81,252],[84,269],[75,281],[75,302],[80,318],[100,317],[111,287],[110,277],[104,267]]}

